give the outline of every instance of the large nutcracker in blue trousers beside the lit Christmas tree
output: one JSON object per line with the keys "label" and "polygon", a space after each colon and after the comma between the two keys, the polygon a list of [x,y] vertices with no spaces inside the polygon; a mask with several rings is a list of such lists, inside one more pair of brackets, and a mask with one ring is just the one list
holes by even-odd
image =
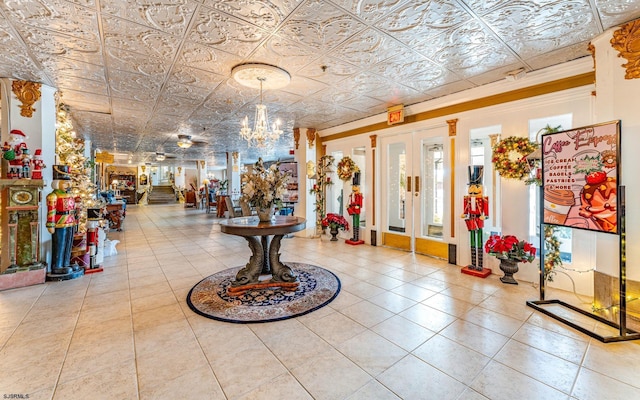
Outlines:
{"label": "large nutcracker in blue trousers beside the lit Christmas tree", "polygon": [[71,248],[76,229],[76,202],[68,193],[71,187],[69,166],[54,165],[53,191],[47,195],[47,230],[52,235],[51,276],[53,279],[71,279],[83,272],[77,265],[71,266]]}

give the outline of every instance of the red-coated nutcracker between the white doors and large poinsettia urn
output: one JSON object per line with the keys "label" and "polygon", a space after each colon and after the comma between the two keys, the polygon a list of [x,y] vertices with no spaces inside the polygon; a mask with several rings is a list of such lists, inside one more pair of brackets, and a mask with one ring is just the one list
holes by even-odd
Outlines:
{"label": "red-coated nutcracker between the white doors and large poinsettia urn", "polygon": [[[484,228],[484,220],[489,216],[489,198],[482,195],[483,169],[484,167],[481,165],[469,167],[469,195],[464,196],[462,218],[465,219],[471,238],[471,265],[466,268],[482,272],[481,276],[487,276],[491,273],[491,270],[482,267],[484,256],[482,252],[482,228]],[[485,275],[486,271],[488,273]]]}

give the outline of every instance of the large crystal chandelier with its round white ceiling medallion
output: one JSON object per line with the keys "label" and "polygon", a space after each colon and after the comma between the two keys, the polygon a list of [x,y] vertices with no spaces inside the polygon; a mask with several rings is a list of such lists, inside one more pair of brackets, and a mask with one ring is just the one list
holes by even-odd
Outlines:
{"label": "large crystal chandelier with its round white ceiling medallion", "polygon": [[262,103],[262,89],[277,89],[286,86],[291,76],[281,68],[269,64],[250,63],[237,65],[231,71],[233,78],[240,84],[255,88],[260,87],[260,104],[256,105],[253,129],[249,127],[249,117],[242,120],[240,136],[247,141],[249,147],[264,148],[278,140],[282,135],[280,120],[269,126],[267,106]]}

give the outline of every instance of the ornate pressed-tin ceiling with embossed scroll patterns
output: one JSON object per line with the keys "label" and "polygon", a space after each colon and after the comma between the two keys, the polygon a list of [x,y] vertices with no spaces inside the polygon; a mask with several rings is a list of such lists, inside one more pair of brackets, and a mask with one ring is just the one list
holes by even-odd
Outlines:
{"label": "ornate pressed-tin ceiling with embossed scroll patterns", "polygon": [[[326,129],[589,55],[640,0],[4,0],[0,76],[60,89],[94,146],[152,160],[286,157],[294,127]],[[286,121],[272,150],[240,121],[259,90],[231,69],[277,65],[264,92]],[[199,144],[181,149],[179,134]]]}

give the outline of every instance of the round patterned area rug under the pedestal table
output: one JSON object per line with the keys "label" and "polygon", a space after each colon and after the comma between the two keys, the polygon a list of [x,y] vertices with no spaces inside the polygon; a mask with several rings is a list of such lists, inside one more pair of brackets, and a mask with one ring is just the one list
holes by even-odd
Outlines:
{"label": "round patterned area rug under the pedestal table", "polygon": [[196,313],[219,321],[248,324],[279,321],[310,313],[329,304],[340,292],[340,279],[331,271],[310,264],[286,263],[298,275],[295,291],[280,288],[253,289],[228,296],[227,288],[242,267],[204,278],[187,295]]}

